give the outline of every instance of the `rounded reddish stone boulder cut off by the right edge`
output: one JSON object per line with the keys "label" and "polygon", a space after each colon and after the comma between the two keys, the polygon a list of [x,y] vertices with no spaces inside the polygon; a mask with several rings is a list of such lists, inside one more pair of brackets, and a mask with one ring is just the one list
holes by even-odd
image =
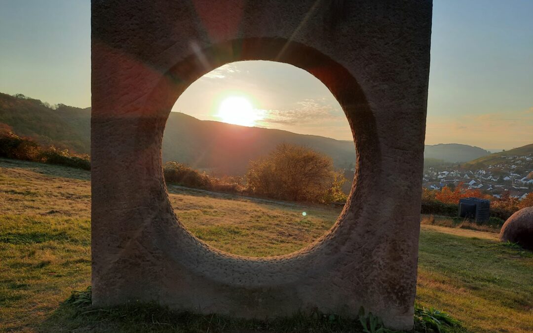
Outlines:
{"label": "rounded reddish stone boulder cut off by the right edge", "polygon": [[533,250],[533,207],[522,208],[507,218],[499,237],[501,241],[512,241]]}

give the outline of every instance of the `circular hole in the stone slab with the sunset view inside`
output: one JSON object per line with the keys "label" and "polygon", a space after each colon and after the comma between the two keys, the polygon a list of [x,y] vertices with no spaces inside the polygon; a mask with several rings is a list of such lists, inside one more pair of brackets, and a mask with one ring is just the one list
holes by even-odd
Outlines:
{"label": "circular hole in the stone slab with the sunset view inside", "polygon": [[197,238],[264,257],[309,245],[337,220],[356,168],[350,125],[309,72],[238,61],[208,72],[168,116],[169,199]]}

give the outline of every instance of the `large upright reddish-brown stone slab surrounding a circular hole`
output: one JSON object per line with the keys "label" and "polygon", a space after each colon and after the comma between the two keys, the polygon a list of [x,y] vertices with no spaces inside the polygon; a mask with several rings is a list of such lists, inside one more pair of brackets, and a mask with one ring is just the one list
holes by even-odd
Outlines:
{"label": "large upright reddish-brown stone slab surrounding a circular hole", "polygon": [[[430,0],[92,1],[92,291],[97,306],[273,318],[316,308],[413,324]],[[249,258],[193,237],[169,204],[161,140],[180,94],[239,60],[309,71],[357,148],[333,228],[296,253]]]}

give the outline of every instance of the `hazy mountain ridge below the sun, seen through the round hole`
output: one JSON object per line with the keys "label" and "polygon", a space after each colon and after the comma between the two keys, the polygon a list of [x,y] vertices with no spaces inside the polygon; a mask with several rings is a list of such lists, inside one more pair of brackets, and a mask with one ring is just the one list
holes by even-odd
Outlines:
{"label": "hazy mountain ridge below the sun, seen through the round hole", "polygon": [[355,164],[355,148],[351,141],[198,120],[179,112],[171,112],[168,117],[163,137],[163,160],[178,159],[195,168],[241,175],[246,172],[250,160],[268,153],[282,142],[306,145],[325,153],[337,168]]}

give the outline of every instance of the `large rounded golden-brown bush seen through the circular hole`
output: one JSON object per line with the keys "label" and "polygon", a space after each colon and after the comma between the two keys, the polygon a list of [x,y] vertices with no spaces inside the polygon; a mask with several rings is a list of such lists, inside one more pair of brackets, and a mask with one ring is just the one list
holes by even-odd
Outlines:
{"label": "large rounded golden-brown bush seen through the circular hole", "polygon": [[293,201],[323,202],[328,193],[338,198],[337,189],[332,188],[342,185],[331,158],[287,143],[252,161],[246,178],[248,190],[253,193]]}

